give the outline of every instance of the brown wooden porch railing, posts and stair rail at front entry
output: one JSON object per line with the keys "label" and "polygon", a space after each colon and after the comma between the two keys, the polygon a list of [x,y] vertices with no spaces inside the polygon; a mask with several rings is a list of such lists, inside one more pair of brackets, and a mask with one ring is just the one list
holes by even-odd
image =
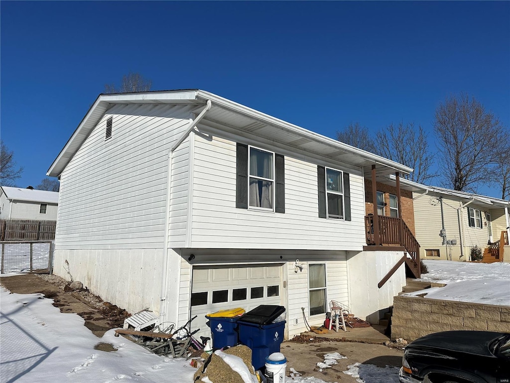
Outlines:
{"label": "brown wooden porch railing, posts and stair rail at front entry", "polygon": [[375,165],[372,165],[372,196],[374,214],[365,216],[365,233],[367,248],[374,246],[374,249],[381,250],[380,247],[399,246],[404,248],[404,255],[397,264],[382,278],[377,284],[380,289],[388,279],[398,270],[405,262],[411,270],[415,278],[421,277],[420,270],[420,244],[416,240],[413,232],[407,227],[402,219],[401,195],[400,195],[400,175],[395,173],[398,217],[379,216],[377,214],[377,186],[375,177]]}

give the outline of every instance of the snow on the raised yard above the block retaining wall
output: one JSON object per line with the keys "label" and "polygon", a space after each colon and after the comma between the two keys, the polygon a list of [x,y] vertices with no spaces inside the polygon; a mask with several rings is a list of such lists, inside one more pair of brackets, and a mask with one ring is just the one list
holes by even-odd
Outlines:
{"label": "snow on the raised yard above the block retaining wall", "polygon": [[[510,306],[510,264],[478,264],[451,260],[424,260],[428,273],[422,281],[446,283],[427,289],[425,298]],[[404,295],[423,294],[421,292]]]}

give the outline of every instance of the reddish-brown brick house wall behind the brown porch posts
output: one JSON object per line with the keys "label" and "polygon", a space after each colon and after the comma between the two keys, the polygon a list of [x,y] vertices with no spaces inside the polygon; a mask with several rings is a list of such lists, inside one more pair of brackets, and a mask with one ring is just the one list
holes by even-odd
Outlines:
{"label": "reddish-brown brick house wall behind the brown porch posts", "polygon": [[[385,215],[390,216],[390,194],[397,195],[397,188],[395,186],[386,185],[377,182],[377,192],[384,193],[384,201],[386,202]],[[402,206],[402,219],[411,232],[416,235],[414,223],[414,207],[413,207],[413,193],[409,190],[400,189],[400,204]],[[365,179],[365,213],[374,213],[374,199],[372,198],[372,181]]]}

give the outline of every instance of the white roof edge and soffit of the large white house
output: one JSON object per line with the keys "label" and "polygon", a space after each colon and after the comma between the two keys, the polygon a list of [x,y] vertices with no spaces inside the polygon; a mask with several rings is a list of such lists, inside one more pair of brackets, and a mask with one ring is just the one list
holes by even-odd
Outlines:
{"label": "white roof edge and soffit of the large white house", "polygon": [[376,166],[378,175],[388,175],[397,171],[401,173],[412,171],[410,167],[398,162],[351,147],[346,143],[290,124],[216,94],[199,89],[185,89],[99,94],[46,174],[53,177],[60,176],[73,155],[111,105],[184,104],[205,106],[207,101],[211,101],[212,107],[202,120],[204,124],[207,122],[219,124],[222,129],[233,131],[236,134],[264,137],[273,142],[281,142],[283,145],[292,147],[297,151],[328,157],[357,167],[366,167],[366,175],[370,174],[371,165]]}

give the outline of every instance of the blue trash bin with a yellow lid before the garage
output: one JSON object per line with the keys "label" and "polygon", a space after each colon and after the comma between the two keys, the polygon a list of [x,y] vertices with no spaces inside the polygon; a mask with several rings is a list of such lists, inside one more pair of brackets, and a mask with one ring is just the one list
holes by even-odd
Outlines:
{"label": "blue trash bin with a yellow lid before the garage", "polygon": [[206,318],[209,319],[213,348],[215,350],[237,345],[237,320],[243,314],[244,309],[236,307],[206,315]]}

